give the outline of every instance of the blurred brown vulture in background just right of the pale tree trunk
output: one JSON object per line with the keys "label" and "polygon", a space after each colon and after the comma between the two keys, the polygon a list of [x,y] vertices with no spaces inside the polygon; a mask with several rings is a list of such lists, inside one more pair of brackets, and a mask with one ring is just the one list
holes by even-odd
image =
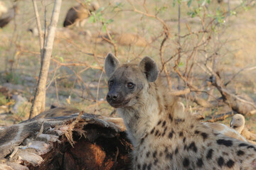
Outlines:
{"label": "blurred brown vulture in background just right of the pale tree trunk", "polygon": [[97,11],[98,8],[100,8],[100,5],[97,2],[91,2],[90,6],[85,4],[73,6],[68,10],[63,26],[83,26],[85,19],[91,15],[92,11]]}

